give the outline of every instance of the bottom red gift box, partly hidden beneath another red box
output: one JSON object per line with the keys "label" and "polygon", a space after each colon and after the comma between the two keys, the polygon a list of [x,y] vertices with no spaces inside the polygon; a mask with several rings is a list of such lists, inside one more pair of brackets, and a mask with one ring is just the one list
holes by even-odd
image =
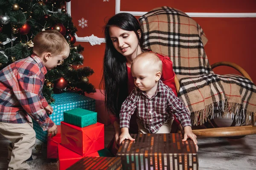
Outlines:
{"label": "bottom red gift box, partly hidden beneath another red box", "polygon": [[82,158],[83,156],[58,144],[58,170],[66,170]]}

